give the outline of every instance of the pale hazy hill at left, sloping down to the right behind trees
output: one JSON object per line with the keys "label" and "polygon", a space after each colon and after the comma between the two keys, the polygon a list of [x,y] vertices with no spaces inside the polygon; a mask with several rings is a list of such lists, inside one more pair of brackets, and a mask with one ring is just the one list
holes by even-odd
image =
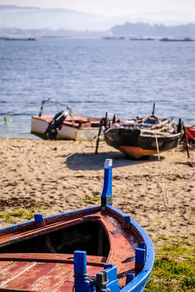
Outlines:
{"label": "pale hazy hill at left, sloping down to the right behind trees", "polygon": [[69,9],[0,5],[0,27],[4,28],[106,30],[115,24],[112,18]]}

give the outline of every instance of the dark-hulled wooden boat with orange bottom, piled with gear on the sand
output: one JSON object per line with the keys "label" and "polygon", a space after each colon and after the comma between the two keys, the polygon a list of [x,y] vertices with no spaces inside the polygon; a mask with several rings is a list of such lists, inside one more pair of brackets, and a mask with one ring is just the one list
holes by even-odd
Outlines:
{"label": "dark-hulled wooden boat with orange bottom, piled with gear on the sand", "polygon": [[[151,122],[157,118],[151,116],[147,119]],[[135,128],[136,126],[137,128]],[[105,141],[108,145],[133,158],[154,155],[157,153],[156,139],[159,152],[173,149],[178,145],[181,133],[178,133],[175,128],[172,128],[172,132],[170,132],[170,126],[173,126],[173,121],[168,119],[157,122],[156,125],[148,122],[142,123],[142,119],[132,120],[132,124],[130,121],[127,125],[123,122],[105,132]]]}

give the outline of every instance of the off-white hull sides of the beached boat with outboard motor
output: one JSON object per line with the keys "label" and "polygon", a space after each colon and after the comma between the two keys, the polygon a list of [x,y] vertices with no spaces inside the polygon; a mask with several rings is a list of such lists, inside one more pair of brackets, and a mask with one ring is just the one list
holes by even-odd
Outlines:
{"label": "off-white hull sides of the beached boat with outboard motor", "polygon": [[[44,134],[49,123],[41,118],[32,117],[31,134],[34,134],[44,140],[48,140],[48,136]],[[75,140],[75,141],[91,141],[98,136],[99,128],[77,128],[62,125],[58,132],[58,140]]]}

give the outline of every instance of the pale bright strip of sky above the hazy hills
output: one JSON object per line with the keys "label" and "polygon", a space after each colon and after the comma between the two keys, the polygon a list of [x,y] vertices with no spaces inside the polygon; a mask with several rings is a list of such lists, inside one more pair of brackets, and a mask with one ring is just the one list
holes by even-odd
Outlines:
{"label": "pale bright strip of sky above the hazy hills", "polygon": [[162,11],[195,14],[195,0],[0,0],[0,5],[66,8],[106,16]]}

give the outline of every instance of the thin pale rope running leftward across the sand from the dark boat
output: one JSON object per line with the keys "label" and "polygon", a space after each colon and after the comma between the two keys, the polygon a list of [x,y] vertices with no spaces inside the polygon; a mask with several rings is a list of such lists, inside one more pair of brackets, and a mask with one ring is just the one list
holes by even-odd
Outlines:
{"label": "thin pale rope running leftward across the sand from the dark boat", "polygon": [[[101,135],[99,135],[98,137],[94,138],[94,139],[93,139],[92,141],[90,141],[87,145],[78,148],[78,151],[76,151],[76,152],[74,152],[74,153],[71,153],[71,154],[68,154],[67,156],[65,156],[65,160],[67,160],[69,157],[73,156],[74,154],[78,153],[81,149],[84,149],[84,148],[86,148],[86,147],[89,147],[93,142],[95,142],[98,138],[101,138],[101,137],[102,137],[105,133],[107,133],[109,130],[110,130],[110,128],[108,128],[105,132],[103,132],[103,133],[102,133]],[[57,162],[52,163],[52,164],[50,164],[50,165],[55,165],[55,164],[59,164],[59,163],[61,163],[61,161],[57,161]],[[41,168],[39,168],[39,169],[36,170],[36,171],[33,171],[33,172],[31,172],[31,173],[28,173],[27,175],[21,176],[21,177],[18,178],[18,179],[15,179],[15,180],[9,181],[9,182],[7,182],[7,183],[2,183],[2,184],[0,184],[0,186],[8,186],[8,185],[10,185],[10,184],[12,184],[12,183],[16,183],[16,182],[18,182],[18,181],[21,181],[21,180],[23,180],[23,179],[26,179],[26,178],[28,178],[28,177],[30,177],[30,176],[32,176],[32,175],[34,175],[34,174],[40,172],[41,170],[45,170],[45,167],[41,167]]]}

